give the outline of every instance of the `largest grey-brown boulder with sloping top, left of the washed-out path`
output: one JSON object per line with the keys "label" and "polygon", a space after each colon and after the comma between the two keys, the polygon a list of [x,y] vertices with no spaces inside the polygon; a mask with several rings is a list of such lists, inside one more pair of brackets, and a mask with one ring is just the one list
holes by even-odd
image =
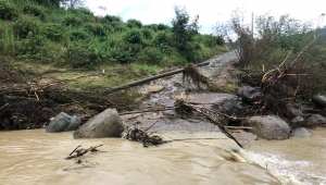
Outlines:
{"label": "largest grey-brown boulder with sloping top, left of the washed-out path", "polygon": [[124,131],[115,109],[106,109],[86,122],[74,133],[74,138],[120,137]]}

